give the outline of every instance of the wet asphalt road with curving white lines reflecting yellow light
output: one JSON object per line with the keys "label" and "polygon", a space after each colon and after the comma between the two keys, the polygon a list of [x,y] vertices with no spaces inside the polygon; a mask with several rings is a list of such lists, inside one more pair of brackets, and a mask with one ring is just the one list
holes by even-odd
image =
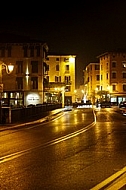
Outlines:
{"label": "wet asphalt road with curving white lines reflecting yellow light", "polygon": [[122,169],[125,175],[125,142],[126,117],[111,108],[73,109],[1,131],[0,189],[105,189]]}

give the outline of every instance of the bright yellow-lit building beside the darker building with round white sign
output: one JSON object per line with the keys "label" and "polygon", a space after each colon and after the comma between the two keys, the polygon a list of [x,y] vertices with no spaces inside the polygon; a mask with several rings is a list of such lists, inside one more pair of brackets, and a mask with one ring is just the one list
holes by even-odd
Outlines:
{"label": "bright yellow-lit building beside the darker building with round white sign", "polygon": [[75,55],[49,54],[46,58],[45,102],[75,102]]}

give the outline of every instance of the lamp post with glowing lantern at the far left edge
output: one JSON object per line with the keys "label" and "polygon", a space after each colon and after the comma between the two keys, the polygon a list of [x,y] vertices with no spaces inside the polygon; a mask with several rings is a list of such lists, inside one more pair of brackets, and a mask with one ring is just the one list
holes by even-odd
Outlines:
{"label": "lamp post with glowing lantern at the far left edge", "polygon": [[2,83],[2,70],[5,69],[7,74],[10,74],[13,69],[14,65],[11,63],[6,65],[3,62],[0,62],[0,124],[2,123],[2,92],[3,92],[3,83]]}

